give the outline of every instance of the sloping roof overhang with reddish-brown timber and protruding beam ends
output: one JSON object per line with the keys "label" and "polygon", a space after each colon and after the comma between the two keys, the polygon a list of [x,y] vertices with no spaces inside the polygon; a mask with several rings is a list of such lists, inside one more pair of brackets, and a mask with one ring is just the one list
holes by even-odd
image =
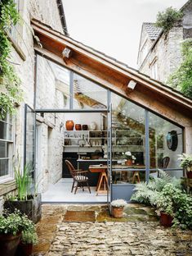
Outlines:
{"label": "sloping roof overhang with reddish-brown timber and protruding beam ends", "polygon": [[[40,21],[32,20],[32,27],[42,44],[34,45],[36,52],[181,126],[192,126],[190,98]],[[130,81],[136,83],[133,89]]]}

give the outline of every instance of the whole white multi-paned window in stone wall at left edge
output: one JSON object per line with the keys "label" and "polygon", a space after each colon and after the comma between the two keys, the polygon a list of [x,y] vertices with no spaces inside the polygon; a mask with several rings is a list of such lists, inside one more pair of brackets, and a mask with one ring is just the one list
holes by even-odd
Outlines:
{"label": "whole white multi-paned window in stone wall at left edge", "polygon": [[12,118],[9,115],[0,121],[0,181],[11,176],[12,127]]}

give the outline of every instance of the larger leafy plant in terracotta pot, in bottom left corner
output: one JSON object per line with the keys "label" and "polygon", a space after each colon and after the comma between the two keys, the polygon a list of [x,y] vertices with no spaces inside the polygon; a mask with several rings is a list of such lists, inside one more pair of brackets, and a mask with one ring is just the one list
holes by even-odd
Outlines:
{"label": "larger leafy plant in terracotta pot, in bottom left corner", "polygon": [[31,225],[27,216],[20,211],[3,213],[0,216],[0,254],[1,256],[14,256],[20,243],[21,232]]}

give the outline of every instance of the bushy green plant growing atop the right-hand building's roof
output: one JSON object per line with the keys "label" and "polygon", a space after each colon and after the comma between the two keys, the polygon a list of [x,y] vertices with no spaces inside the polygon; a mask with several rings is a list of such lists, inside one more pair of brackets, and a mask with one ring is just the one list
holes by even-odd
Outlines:
{"label": "bushy green plant growing atop the right-hand building's roof", "polygon": [[181,21],[182,16],[183,14],[181,11],[168,7],[165,11],[159,11],[155,25],[162,28],[166,33],[168,30],[172,29],[176,24],[176,21]]}

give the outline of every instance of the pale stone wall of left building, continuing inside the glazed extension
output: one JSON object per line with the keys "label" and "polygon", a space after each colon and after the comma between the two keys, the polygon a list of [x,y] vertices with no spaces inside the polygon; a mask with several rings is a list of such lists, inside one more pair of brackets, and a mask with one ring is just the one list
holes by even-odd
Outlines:
{"label": "pale stone wall of left building, continuing inside the glazed extension", "polygon": [[[3,196],[11,193],[16,188],[13,181],[14,162],[20,162],[21,166],[24,161],[24,133],[25,133],[25,104],[33,108],[34,98],[34,72],[35,72],[35,54],[33,49],[34,34],[30,25],[31,19],[35,18],[52,29],[67,34],[65,25],[65,16],[63,12],[62,2],[59,0],[17,0],[17,8],[20,12],[20,22],[13,27],[10,34],[12,43],[11,61],[16,63],[15,69],[21,80],[21,89],[23,90],[23,103],[16,109],[16,116],[13,117],[12,126],[12,144],[11,158],[9,159],[10,168],[7,175],[2,176],[0,183],[0,203],[2,205]],[[46,67],[44,67],[45,71]],[[47,98],[52,97],[51,92],[47,90]],[[58,98],[57,98],[58,100]],[[60,140],[60,118],[56,114],[47,114],[45,117],[37,117],[37,129],[40,131],[41,144],[38,147],[38,156],[41,162],[41,175],[38,176],[38,190],[47,189],[50,181],[56,182],[62,175],[62,140]],[[2,138],[1,138],[2,139]],[[19,160],[18,160],[19,159]],[[16,164],[17,164],[16,163]],[[51,171],[50,171],[51,170]],[[6,172],[6,171],[5,171]],[[0,205],[0,209],[2,208]]]}

